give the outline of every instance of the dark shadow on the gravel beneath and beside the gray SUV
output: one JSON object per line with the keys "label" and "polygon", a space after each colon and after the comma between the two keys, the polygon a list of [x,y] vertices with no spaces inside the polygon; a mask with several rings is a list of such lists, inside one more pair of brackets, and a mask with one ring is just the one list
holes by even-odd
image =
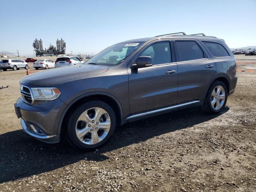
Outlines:
{"label": "dark shadow on the gravel beneath and beside the gray SUV", "polygon": [[0,184],[19,178],[49,172],[80,160],[104,161],[104,155],[118,148],[143,142],[155,136],[192,127],[228,112],[205,114],[198,108],[171,112],[118,127],[105,146],[82,151],[68,142],[45,144],[31,138],[23,130],[0,135]]}

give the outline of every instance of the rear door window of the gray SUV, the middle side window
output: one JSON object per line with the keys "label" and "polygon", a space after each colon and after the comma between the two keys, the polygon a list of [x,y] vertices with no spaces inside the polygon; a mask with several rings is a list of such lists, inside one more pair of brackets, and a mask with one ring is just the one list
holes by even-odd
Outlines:
{"label": "rear door window of the gray SUV, the middle side window", "polygon": [[195,41],[175,41],[178,61],[203,59],[204,52]]}

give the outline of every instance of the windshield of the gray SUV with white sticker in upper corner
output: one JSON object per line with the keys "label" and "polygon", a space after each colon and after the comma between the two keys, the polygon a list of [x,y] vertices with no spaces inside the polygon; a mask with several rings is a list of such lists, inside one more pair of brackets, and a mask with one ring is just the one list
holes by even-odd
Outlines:
{"label": "windshield of the gray SUV with white sticker in upper corner", "polygon": [[129,56],[142,42],[119,43],[112,45],[88,60],[86,64],[117,65]]}

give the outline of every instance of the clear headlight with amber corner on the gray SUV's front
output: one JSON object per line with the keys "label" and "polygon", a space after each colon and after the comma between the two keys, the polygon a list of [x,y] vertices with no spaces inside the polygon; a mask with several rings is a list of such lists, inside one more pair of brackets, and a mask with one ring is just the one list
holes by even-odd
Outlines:
{"label": "clear headlight with amber corner on the gray SUV's front", "polygon": [[31,88],[34,100],[51,101],[60,96],[60,91],[54,87]]}

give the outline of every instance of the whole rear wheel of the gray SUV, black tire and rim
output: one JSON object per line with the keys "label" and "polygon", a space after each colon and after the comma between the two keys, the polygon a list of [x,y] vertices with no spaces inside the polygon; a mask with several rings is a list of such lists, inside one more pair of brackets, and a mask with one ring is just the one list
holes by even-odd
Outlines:
{"label": "whole rear wheel of the gray SUV, black tire and rim", "polygon": [[202,109],[207,113],[219,113],[226,106],[227,99],[228,90],[226,85],[221,81],[214,81],[207,91]]}

